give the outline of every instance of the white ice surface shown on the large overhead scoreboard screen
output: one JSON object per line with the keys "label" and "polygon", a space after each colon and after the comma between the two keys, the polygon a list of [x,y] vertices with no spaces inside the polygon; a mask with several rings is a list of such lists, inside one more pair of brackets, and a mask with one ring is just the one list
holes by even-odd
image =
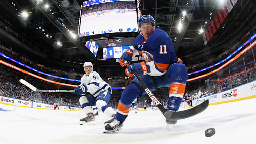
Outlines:
{"label": "white ice surface shown on the large overhead scoreboard screen", "polygon": [[[119,32],[120,28],[122,28],[122,32],[127,32],[126,28],[137,28],[136,18],[136,12],[119,14],[116,12],[105,12],[104,15],[100,14],[100,16],[93,14],[82,17],[80,33],[89,32],[91,35],[92,31],[94,31],[94,34],[102,34],[104,30],[115,30],[115,32]],[[102,29],[102,25],[104,29]]]}

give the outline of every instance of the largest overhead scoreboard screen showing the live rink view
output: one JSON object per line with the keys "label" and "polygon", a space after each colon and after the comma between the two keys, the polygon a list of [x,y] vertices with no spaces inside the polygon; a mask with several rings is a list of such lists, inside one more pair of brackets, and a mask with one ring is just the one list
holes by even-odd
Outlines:
{"label": "largest overhead scoreboard screen showing the live rink view", "polygon": [[[138,0],[137,0],[138,1]],[[135,0],[89,0],[80,11],[79,37],[137,32],[137,2]],[[140,13],[140,10],[138,10]]]}

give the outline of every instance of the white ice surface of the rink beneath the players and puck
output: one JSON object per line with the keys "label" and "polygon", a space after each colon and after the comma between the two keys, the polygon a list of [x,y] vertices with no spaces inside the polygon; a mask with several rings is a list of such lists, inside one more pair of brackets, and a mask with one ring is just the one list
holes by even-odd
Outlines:
{"label": "white ice surface of the rink beneath the players and puck", "polygon": [[[160,111],[131,111],[121,131],[103,133],[108,117],[96,116],[96,125],[79,125],[81,111],[17,107],[0,111],[1,144],[241,144],[255,142],[256,98],[210,105],[202,113],[182,119],[169,131]],[[0,104],[0,108],[14,106]],[[181,108],[180,110],[185,110]],[[204,131],[215,128],[206,137]]]}

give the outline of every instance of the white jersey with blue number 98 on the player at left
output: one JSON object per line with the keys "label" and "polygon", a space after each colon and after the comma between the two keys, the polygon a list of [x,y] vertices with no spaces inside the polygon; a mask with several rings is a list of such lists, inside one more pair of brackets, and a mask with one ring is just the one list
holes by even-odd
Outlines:
{"label": "white jersey with blue number 98 on the player at left", "polygon": [[100,92],[105,91],[110,87],[108,83],[105,82],[96,71],[92,71],[89,76],[84,74],[81,78],[81,84],[86,85],[88,88],[87,92],[89,92],[94,97],[98,96]]}

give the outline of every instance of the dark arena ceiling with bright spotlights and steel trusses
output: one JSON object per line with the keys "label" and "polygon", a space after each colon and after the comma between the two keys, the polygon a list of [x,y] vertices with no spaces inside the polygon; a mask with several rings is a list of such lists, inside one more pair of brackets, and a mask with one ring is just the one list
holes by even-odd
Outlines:
{"label": "dark arena ceiling with bright spotlights and steel trusses", "polygon": [[[89,51],[81,47],[77,37],[74,38],[83,1],[1,0],[0,22],[28,39],[31,44],[26,45],[41,51],[47,58],[83,63],[91,59]],[[221,10],[220,3],[221,0],[141,0],[142,14],[150,14],[155,18],[156,28],[170,35],[174,50],[181,58],[223,42],[234,27],[247,24],[241,18],[250,16],[246,11],[255,10],[255,0],[238,0],[222,27],[205,47],[199,30],[206,30],[212,17]],[[27,18],[22,17],[24,11],[28,13]],[[182,23],[180,30],[179,23]],[[3,35],[2,38],[10,41]],[[56,41],[61,42],[61,45]]]}

